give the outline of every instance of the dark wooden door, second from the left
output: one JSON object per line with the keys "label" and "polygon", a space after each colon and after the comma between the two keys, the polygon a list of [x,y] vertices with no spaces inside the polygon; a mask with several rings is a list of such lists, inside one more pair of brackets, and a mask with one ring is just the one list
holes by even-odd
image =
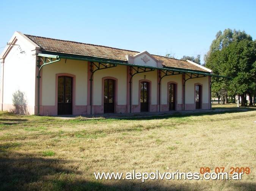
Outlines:
{"label": "dark wooden door, second from the left", "polygon": [[115,112],[115,80],[104,80],[104,113]]}

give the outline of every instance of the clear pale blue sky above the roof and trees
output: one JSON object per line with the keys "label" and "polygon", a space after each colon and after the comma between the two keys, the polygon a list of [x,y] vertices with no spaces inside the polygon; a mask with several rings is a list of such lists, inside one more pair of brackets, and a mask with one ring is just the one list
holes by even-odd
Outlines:
{"label": "clear pale blue sky above the roof and trees", "polygon": [[218,31],[256,38],[256,0],[0,0],[0,17],[0,52],[20,31],[203,63]]}

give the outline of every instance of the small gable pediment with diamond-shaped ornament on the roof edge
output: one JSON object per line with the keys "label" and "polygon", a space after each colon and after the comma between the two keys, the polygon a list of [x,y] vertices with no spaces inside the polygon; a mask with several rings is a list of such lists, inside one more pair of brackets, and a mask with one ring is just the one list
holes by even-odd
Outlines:
{"label": "small gable pediment with diamond-shaped ornament on the roof edge", "polygon": [[155,59],[148,51],[143,51],[135,55],[126,55],[126,59],[129,64],[163,68],[163,61]]}

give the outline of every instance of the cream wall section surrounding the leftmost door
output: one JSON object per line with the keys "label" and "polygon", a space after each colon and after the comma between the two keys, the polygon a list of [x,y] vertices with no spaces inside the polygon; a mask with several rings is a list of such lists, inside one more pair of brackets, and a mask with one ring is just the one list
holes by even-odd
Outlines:
{"label": "cream wall section surrounding the leftmost door", "polygon": [[75,105],[87,105],[87,66],[87,61],[65,59],[43,66],[41,71],[42,105],[55,105],[56,74],[60,73],[75,75]]}

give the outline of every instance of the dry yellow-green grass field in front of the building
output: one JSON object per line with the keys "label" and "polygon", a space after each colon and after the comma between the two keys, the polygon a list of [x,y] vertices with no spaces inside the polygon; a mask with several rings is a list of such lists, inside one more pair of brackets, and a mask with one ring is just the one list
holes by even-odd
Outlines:
{"label": "dry yellow-green grass field in front of the building", "polygon": [[[213,109],[235,105],[213,105]],[[0,112],[0,190],[255,190],[256,109],[145,119],[63,120]],[[199,173],[242,180],[96,180],[94,172]],[[125,176],[124,176],[125,177]]]}

